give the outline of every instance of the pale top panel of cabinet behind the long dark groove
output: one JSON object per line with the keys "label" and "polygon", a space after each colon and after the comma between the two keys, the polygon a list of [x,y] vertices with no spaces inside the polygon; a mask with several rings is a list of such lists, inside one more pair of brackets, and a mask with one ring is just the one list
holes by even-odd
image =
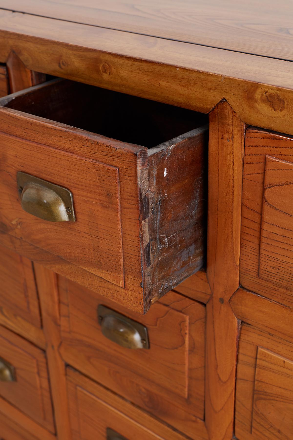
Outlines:
{"label": "pale top panel of cabinet behind the long dark groove", "polygon": [[1,0],[0,7],[68,22],[293,60],[292,0]]}

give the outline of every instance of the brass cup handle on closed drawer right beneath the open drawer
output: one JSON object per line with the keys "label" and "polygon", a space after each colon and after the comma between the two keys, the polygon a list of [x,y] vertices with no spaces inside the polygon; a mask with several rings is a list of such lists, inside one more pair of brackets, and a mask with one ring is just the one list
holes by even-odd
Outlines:
{"label": "brass cup handle on closed drawer right beneath the open drawer", "polygon": [[125,348],[149,348],[148,329],[111,308],[98,306],[102,334]]}

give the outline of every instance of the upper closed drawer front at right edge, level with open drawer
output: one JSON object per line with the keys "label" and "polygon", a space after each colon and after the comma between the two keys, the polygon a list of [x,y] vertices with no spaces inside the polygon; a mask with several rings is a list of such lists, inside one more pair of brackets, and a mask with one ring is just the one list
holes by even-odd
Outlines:
{"label": "upper closed drawer front at right edge, level with open drawer", "polygon": [[246,131],[240,282],[282,304],[292,297],[293,138]]}

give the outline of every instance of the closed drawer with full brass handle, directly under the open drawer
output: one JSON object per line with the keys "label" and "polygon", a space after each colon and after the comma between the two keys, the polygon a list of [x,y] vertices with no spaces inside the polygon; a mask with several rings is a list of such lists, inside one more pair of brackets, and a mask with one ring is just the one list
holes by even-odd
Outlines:
{"label": "closed drawer with full brass handle, directly under the open drawer", "polygon": [[[141,316],[58,278],[65,362],[194,438],[204,425],[205,306],[169,292]],[[137,323],[145,330],[130,335]]]}

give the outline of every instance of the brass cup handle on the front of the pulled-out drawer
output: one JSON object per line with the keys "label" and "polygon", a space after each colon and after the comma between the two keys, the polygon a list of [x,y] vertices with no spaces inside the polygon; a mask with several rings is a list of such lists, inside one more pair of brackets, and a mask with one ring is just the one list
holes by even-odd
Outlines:
{"label": "brass cup handle on the front of the pulled-out drawer", "polygon": [[75,221],[72,193],[25,172],[17,174],[22,209],[48,221]]}

